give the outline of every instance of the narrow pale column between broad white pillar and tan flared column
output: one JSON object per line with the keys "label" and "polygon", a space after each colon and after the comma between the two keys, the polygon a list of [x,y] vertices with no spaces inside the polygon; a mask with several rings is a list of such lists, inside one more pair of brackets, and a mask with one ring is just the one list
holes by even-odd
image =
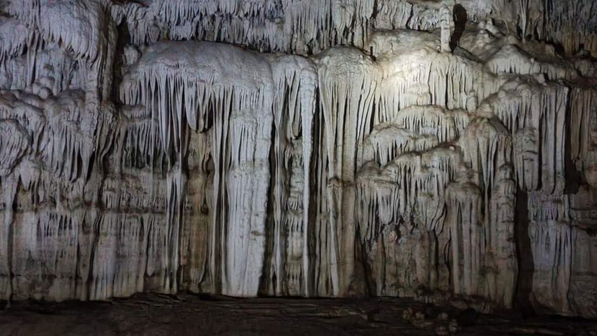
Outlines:
{"label": "narrow pale column between broad white pillar and tan flared column", "polygon": [[273,104],[276,171],[271,196],[276,290],[272,294],[308,295],[306,242],[316,70],[301,57],[278,57],[272,60],[272,71],[277,82]]}

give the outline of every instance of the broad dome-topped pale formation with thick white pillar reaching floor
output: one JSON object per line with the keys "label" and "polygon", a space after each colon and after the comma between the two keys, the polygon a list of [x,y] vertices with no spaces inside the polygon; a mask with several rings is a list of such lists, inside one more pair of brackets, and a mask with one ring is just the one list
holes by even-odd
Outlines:
{"label": "broad dome-topped pale formation with thick white pillar reaching floor", "polygon": [[[187,52],[170,54],[174,45],[185,47]],[[122,100],[128,105],[146,106],[148,113],[155,116],[152,118],[158,120],[153,132],[159,133],[162,150],[174,151],[181,157],[187,152],[184,140],[187,125],[193,130],[205,130],[208,123],[213,122],[211,152],[216,164],[213,204],[225,209],[226,216],[220,216],[216,210],[211,219],[211,276],[214,282],[221,277],[224,293],[256,294],[259,277],[253,272],[260,272],[263,259],[255,253],[259,255],[257,251],[264,247],[267,190],[264,179],[269,179],[269,167],[265,163],[271,125],[267,121],[272,117],[263,113],[266,106],[272,106],[273,81],[269,64],[257,54],[239,53],[226,45],[164,43],[153,48],[147,60],[141,58],[134,76],[125,78]],[[211,65],[205,63],[205,54],[201,59],[194,56],[201,54],[195,51],[202,48],[219,50],[213,54]],[[170,60],[171,66],[162,63],[165,59]],[[228,74],[232,70],[218,66],[222,63],[246,65],[247,62],[255,66],[245,68],[242,81],[230,82],[232,77]],[[189,77],[188,71],[195,71],[195,78]],[[270,74],[269,80],[267,77],[260,80],[257,74]],[[209,86],[205,79],[211,81]],[[216,85],[222,86],[218,89]],[[175,162],[180,164],[180,158]],[[248,184],[240,182],[251,180],[253,182]],[[168,204],[169,211],[174,210],[170,209],[174,205]],[[242,225],[248,213],[253,214],[251,225]],[[172,239],[178,240],[177,236]],[[223,262],[224,267],[216,265],[219,258],[223,258],[218,262]]]}

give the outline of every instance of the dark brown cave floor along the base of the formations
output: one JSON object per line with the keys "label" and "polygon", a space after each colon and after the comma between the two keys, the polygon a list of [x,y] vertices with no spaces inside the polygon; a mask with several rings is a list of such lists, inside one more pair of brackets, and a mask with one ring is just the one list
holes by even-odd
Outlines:
{"label": "dark brown cave floor along the base of the formations", "polygon": [[[405,310],[418,312],[418,319],[409,319],[416,322],[403,319]],[[0,335],[449,335],[451,320],[458,335],[597,335],[592,320],[478,314],[409,299],[186,294],[141,294],[112,302],[20,301],[0,311]]]}

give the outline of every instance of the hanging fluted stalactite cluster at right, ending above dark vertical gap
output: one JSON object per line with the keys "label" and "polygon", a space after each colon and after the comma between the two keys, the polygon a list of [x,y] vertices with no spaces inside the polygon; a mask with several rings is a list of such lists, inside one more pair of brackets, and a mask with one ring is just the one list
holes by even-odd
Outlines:
{"label": "hanging fluted stalactite cluster at right, ending above dark vertical gap", "polygon": [[[540,84],[543,80],[538,79],[539,83],[534,78],[510,81],[480,109],[495,113],[512,132],[519,186],[558,193],[564,188],[568,88]],[[509,100],[501,100],[503,97]]]}

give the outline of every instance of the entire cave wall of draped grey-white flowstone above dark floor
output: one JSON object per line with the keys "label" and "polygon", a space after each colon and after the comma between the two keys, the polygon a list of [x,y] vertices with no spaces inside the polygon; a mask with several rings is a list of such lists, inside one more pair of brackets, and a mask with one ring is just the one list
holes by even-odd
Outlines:
{"label": "entire cave wall of draped grey-white flowstone above dark floor", "polygon": [[0,6],[0,298],[597,317],[597,1]]}

